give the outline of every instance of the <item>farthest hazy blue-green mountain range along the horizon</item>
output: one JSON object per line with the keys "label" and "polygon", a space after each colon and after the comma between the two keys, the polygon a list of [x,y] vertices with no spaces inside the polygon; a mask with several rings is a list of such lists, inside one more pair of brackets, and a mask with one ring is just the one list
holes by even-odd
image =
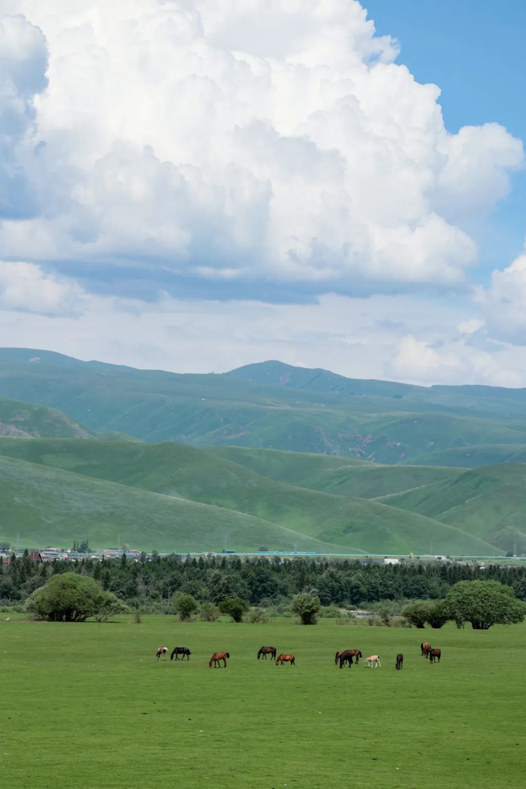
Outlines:
{"label": "farthest hazy blue-green mountain range along the horizon", "polygon": [[430,453],[523,445],[526,402],[504,392],[352,380],[278,362],[179,375],[0,349],[0,397],[61,409],[95,432],[390,464],[438,465]]}

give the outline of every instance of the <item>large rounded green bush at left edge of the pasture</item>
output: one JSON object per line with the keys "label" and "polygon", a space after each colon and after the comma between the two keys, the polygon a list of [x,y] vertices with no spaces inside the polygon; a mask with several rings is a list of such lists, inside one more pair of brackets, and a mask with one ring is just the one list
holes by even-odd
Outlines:
{"label": "large rounded green bush at left edge of the pasture", "polygon": [[106,603],[108,593],[88,575],[53,575],[45,586],[28,597],[26,610],[51,622],[84,622]]}

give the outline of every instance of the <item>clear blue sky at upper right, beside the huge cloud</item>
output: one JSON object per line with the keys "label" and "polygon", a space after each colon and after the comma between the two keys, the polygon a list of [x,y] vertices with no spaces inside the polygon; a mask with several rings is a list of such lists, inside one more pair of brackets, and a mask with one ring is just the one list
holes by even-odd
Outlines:
{"label": "clear blue sky at upper right, beside the huge cloud", "polygon": [[[526,3],[507,0],[369,0],[380,35],[398,39],[403,62],[419,82],[441,89],[439,103],[450,132],[497,122],[526,140]],[[526,229],[526,170],[488,226],[478,229],[481,260],[474,279],[517,256]]]}

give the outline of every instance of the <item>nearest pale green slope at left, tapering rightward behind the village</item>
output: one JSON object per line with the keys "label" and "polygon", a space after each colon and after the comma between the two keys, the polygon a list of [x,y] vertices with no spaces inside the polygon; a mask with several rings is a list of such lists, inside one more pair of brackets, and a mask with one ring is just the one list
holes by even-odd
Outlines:
{"label": "nearest pale green slope at left, tapering rightward behind the village", "polygon": [[[88,442],[86,442],[88,443]],[[273,548],[333,550],[250,515],[185,501],[125,485],[0,458],[0,537],[22,546],[58,544],[88,538],[92,548],[127,542],[158,551],[220,551]]]}

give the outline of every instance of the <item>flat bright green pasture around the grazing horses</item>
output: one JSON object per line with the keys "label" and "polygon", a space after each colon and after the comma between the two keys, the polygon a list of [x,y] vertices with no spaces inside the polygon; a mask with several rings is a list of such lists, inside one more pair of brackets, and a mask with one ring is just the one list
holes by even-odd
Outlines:
{"label": "flat bright green pasture around the grazing horses", "polygon": [[[440,665],[420,656],[423,637]],[[263,644],[297,666],[256,660]],[[0,645],[9,789],[524,785],[526,626],[2,621]],[[159,645],[188,646],[190,662],[158,663]],[[334,667],[354,647],[382,668]],[[209,670],[215,650],[226,670]]]}

